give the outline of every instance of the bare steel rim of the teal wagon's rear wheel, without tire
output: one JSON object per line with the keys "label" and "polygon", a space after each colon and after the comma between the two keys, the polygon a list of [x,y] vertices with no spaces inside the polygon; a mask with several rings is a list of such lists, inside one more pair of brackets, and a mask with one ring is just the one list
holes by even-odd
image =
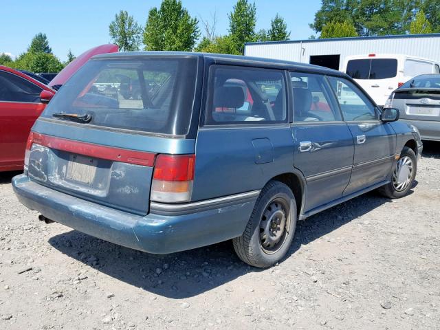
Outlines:
{"label": "bare steel rim of the teal wagon's rear wheel, without tire", "polygon": [[267,205],[260,221],[260,243],[263,251],[272,254],[281,248],[289,233],[289,204],[274,199]]}

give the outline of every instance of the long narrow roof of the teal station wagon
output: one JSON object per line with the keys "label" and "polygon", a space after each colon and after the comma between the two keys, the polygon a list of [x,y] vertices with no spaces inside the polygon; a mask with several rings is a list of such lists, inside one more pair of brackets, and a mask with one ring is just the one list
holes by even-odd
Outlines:
{"label": "long narrow roof of the teal station wagon", "polygon": [[329,74],[331,76],[344,76],[346,74],[337,70],[329,69],[327,67],[320,67],[318,65],[311,65],[306,63],[298,63],[291,61],[276,60],[272,58],[259,58],[241,55],[227,55],[227,54],[210,54],[197,52],[119,52],[112,54],[101,54],[94,56],[94,60],[108,59],[108,58],[144,58],[144,57],[183,57],[183,58],[204,58],[214,61],[216,64],[231,65],[245,65],[257,67],[270,67],[276,69],[289,69],[294,71],[307,71],[319,74]]}

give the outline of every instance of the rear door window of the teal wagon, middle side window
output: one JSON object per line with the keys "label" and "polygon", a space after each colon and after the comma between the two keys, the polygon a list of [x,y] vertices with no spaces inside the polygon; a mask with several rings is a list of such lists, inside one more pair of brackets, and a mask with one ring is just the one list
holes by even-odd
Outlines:
{"label": "rear door window of the teal wagon, middle side window", "polygon": [[341,120],[338,106],[331,102],[324,76],[299,72],[291,72],[290,76],[294,96],[295,122]]}

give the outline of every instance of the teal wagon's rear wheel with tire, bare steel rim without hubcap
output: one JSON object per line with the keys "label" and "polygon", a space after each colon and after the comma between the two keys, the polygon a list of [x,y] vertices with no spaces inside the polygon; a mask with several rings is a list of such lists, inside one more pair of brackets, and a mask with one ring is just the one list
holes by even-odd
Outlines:
{"label": "teal wagon's rear wheel with tire, bare steel rim without hubcap", "polygon": [[251,266],[274,265],[289,250],[296,218],[296,201],[292,190],[280,181],[269,181],[256,200],[245,231],[232,239],[236,254]]}

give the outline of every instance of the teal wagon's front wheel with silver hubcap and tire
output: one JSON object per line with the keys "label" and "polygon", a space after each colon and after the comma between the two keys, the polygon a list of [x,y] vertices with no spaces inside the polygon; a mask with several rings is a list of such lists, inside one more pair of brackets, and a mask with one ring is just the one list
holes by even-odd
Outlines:
{"label": "teal wagon's front wheel with silver hubcap and tire", "polygon": [[[406,166],[406,169],[404,166]],[[409,173],[406,172],[408,168]],[[404,197],[408,195],[408,191],[412,188],[416,173],[417,157],[411,148],[405,146],[401,151],[395,168],[393,168],[393,173],[391,173],[391,182],[377,190],[385,197],[391,199]]]}

